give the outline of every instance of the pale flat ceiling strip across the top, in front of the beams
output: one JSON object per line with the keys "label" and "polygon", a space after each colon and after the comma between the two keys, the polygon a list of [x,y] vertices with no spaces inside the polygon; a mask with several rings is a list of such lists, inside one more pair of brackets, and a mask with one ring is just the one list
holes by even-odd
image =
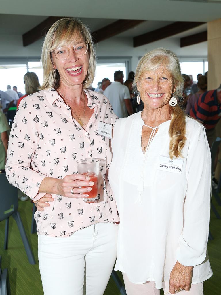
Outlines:
{"label": "pale flat ceiling strip across the top, in front of the beams", "polygon": [[2,14],[20,15],[208,22],[220,12],[221,1],[1,0]]}

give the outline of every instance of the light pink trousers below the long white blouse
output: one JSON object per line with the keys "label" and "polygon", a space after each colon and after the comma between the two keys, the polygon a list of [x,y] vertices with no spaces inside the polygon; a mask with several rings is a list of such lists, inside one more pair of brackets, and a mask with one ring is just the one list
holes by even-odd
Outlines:
{"label": "light pink trousers below the long white blouse", "polygon": [[[160,295],[160,290],[156,289],[155,282],[146,282],[144,284],[134,284],[128,280],[126,273],[123,273],[123,280],[127,295]],[[169,282],[163,283],[164,294],[169,291]],[[168,293],[170,295],[171,293]],[[203,295],[203,283],[193,284],[189,291],[180,291],[180,295]]]}

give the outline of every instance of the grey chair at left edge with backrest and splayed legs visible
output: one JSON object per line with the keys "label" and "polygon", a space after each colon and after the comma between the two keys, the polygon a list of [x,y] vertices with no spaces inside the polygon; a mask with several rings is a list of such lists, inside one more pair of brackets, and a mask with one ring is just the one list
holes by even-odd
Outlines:
{"label": "grey chair at left edge with backrest and splayed legs visible", "polygon": [[8,248],[9,217],[12,216],[18,225],[29,263],[35,264],[34,255],[18,212],[18,189],[8,182],[6,173],[0,173],[0,187],[0,222],[6,219],[4,249]]}

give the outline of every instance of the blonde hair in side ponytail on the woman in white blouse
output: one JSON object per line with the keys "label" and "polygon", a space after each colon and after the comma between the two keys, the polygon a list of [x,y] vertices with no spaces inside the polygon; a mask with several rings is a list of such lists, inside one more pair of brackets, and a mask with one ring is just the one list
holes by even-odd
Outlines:
{"label": "blonde hair in side ponytail on the woman in white blouse", "polygon": [[[164,66],[176,85],[174,97],[178,101],[183,97],[183,78],[180,71],[179,59],[172,51],[165,48],[157,48],[146,53],[140,60],[136,68],[133,87],[137,91],[137,82],[145,71],[155,71],[160,66]],[[186,142],[186,114],[179,104],[170,106],[171,122],[169,127],[169,155],[170,158],[182,157],[182,148]]]}

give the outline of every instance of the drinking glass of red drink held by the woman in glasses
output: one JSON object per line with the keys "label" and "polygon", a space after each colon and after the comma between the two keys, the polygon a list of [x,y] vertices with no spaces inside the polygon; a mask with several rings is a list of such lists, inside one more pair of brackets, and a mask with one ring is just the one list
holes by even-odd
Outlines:
{"label": "drinking glass of red drink held by the woman in glasses", "polygon": [[[90,177],[90,181],[94,182],[91,186],[92,190],[88,191],[88,197],[83,198],[86,203],[94,203],[98,201],[98,174],[99,174],[99,160],[98,159],[81,159],[77,161],[77,173]],[[86,186],[82,186],[85,188]]]}

